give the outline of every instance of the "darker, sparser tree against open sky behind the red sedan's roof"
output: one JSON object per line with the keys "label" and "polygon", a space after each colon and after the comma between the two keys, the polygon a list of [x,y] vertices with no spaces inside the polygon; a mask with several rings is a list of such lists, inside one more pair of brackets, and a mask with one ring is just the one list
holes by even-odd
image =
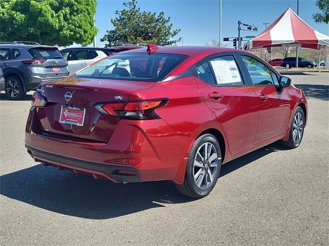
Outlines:
{"label": "darker, sparser tree against open sky behind the red sedan's roof", "polygon": [[111,19],[114,30],[107,30],[107,34],[103,37],[104,41],[108,41],[109,47],[122,44],[149,44],[156,45],[172,45],[180,41],[170,40],[178,34],[180,29],[173,30],[173,24],[169,24],[170,17],[165,18],[164,13],[141,12],[137,8],[137,1],[132,0],[123,3],[125,9],[116,11],[119,15],[115,19]]}

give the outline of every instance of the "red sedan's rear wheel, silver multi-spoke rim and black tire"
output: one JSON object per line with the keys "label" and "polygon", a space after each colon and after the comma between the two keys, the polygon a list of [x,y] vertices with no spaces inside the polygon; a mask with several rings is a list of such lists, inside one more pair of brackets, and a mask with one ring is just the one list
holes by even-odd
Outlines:
{"label": "red sedan's rear wheel, silver multi-spoke rim and black tire", "polygon": [[188,156],[184,182],[176,185],[179,193],[192,198],[203,198],[212,191],[222,165],[220,144],[211,134],[199,136]]}

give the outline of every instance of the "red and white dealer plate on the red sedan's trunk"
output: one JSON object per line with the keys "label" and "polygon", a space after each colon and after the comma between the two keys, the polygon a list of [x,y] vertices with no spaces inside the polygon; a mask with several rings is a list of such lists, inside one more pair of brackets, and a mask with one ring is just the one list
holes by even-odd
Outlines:
{"label": "red and white dealer plate on the red sedan's trunk", "polygon": [[62,105],[60,122],[63,124],[83,126],[86,109]]}

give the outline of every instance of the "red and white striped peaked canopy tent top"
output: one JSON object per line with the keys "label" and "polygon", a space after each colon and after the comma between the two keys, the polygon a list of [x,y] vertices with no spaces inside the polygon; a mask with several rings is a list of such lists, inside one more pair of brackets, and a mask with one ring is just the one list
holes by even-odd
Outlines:
{"label": "red and white striped peaked canopy tent top", "polygon": [[288,8],[261,34],[251,39],[245,49],[281,46],[321,49],[329,46],[329,36],[308,26],[293,10]]}

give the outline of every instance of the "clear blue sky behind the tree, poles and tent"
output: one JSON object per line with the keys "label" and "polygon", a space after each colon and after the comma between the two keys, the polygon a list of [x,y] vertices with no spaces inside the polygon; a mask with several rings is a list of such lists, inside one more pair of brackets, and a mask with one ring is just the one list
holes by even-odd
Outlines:
{"label": "clear blue sky behind the tree, poles and tent", "polygon": [[[117,17],[116,10],[123,10],[123,2],[129,0],[98,0],[96,9],[96,46],[104,46],[100,38],[106,30],[113,30],[111,16]],[[271,24],[288,7],[297,13],[309,26],[329,35],[329,25],[316,24],[312,18],[320,12],[315,0],[222,0],[222,38],[237,36],[237,22],[258,27],[258,32],[242,31],[242,36],[260,34],[263,23]],[[165,17],[171,18],[173,29],[180,29],[176,37],[182,37],[177,45],[205,45],[211,40],[218,42],[220,38],[220,0],[137,0],[140,11],[156,13],[163,11]],[[268,26],[268,25],[267,25]],[[176,38],[178,39],[178,38]],[[232,47],[232,42],[227,43]]]}

